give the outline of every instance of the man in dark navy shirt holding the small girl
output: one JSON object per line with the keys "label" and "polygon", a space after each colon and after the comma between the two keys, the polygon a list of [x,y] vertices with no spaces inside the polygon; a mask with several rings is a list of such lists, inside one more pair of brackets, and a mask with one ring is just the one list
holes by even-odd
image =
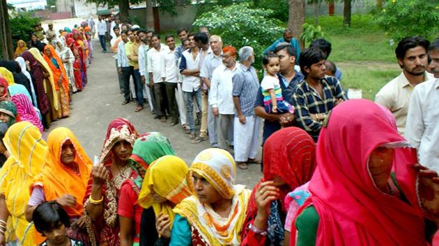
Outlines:
{"label": "man in dark navy shirt holding the small girl", "polygon": [[[302,81],[304,76],[300,72],[295,72],[295,49],[291,44],[281,44],[275,49],[275,54],[280,58],[279,83],[282,88],[282,97],[285,101],[288,101],[293,105],[293,94],[295,92],[295,86]],[[281,122],[284,125],[290,125],[294,122],[294,115],[291,113],[285,114],[269,114],[265,112],[263,105],[262,90],[259,88],[259,92],[256,96],[256,103],[254,104],[254,111],[256,115],[265,119],[263,123],[263,136],[262,145],[265,140],[281,128]]]}

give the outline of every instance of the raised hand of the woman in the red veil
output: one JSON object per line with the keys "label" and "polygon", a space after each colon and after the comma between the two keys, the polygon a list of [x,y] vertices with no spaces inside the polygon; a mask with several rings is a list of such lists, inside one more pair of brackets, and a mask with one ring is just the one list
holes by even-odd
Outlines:
{"label": "raised hand of the woman in the red veil", "polygon": [[256,206],[258,207],[258,212],[256,216],[268,219],[270,215],[270,204],[271,202],[279,198],[279,188],[273,186],[273,181],[265,181],[256,189],[254,193],[254,199],[256,200]]}

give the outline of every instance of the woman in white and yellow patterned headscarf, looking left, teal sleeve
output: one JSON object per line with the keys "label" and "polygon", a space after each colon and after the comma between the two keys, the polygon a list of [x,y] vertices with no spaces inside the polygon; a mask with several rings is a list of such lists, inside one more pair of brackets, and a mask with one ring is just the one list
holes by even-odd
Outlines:
{"label": "woman in white and yellow patterned headscarf, looking left, teal sleeve", "polygon": [[235,185],[233,156],[205,149],[195,157],[190,175],[197,195],[174,208],[170,245],[240,245],[250,190]]}

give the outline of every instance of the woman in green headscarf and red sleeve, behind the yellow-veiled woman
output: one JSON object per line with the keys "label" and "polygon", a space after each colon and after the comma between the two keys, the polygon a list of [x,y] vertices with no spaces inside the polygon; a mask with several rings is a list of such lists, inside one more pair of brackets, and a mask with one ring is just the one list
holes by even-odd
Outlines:
{"label": "woman in green headscarf and red sleeve, behind the yellow-veiled woman", "polygon": [[[119,197],[118,215],[119,222],[121,224],[121,246],[125,245],[139,245],[141,238],[141,214],[143,208],[137,202],[139,198],[139,192],[142,188],[145,172],[147,172],[149,165],[153,163],[157,158],[166,155],[174,155],[174,149],[172,149],[169,140],[157,132],[146,133],[134,142],[132,148],[132,155],[130,158],[130,165],[132,172],[130,179],[127,179],[121,187],[121,195]],[[151,213],[152,211],[146,211],[145,213]],[[152,221],[148,220],[148,224],[155,226],[155,216],[152,216]],[[146,235],[142,235],[144,238],[148,238],[151,241],[153,233],[146,231]],[[156,240],[157,238],[155,238]]]}

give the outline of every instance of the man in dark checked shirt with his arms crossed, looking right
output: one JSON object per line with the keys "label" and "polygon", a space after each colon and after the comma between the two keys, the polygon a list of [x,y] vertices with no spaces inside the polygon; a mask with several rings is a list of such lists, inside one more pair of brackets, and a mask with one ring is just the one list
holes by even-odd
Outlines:
{"label": "man in dark checked shirt with his arms crossed, looking right", "polygon": [[346,100],[340,81],[325,76],[325,54],[321,49],[309,48],[300,56],[300,70],[305,76],[293,95],[298,126],[317,142],[323,121],[330,110]]}

